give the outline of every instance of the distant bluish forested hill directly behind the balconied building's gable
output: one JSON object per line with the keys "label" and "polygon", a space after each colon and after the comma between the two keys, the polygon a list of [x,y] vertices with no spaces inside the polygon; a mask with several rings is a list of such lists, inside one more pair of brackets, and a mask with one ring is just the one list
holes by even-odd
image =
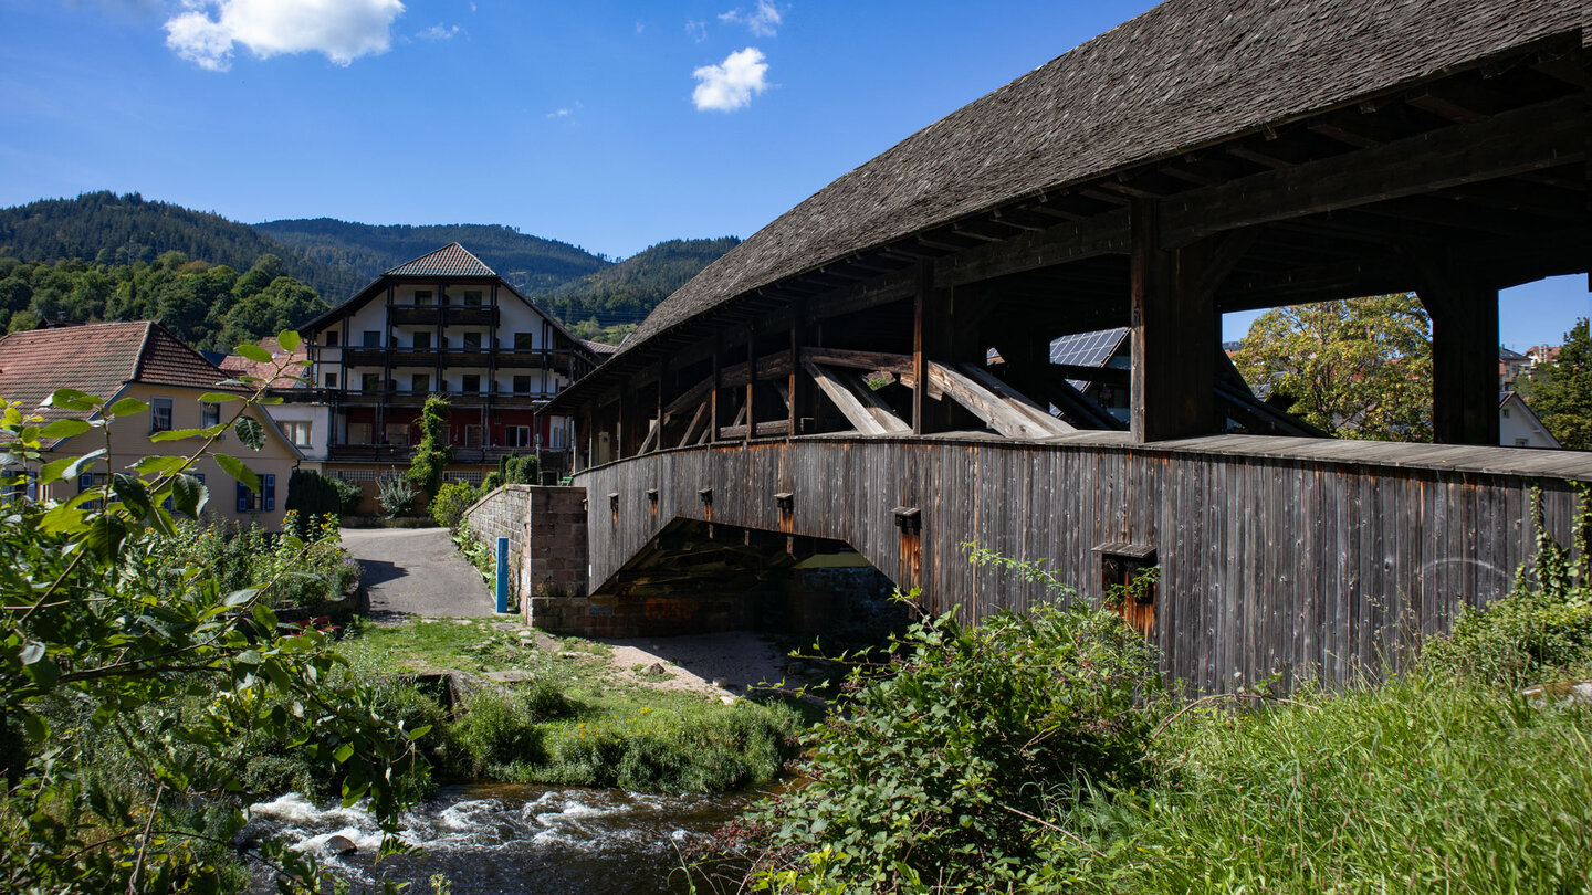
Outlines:
{"label": "distant bluish forested hill directly behind the balconied building's gable", "polygon": [[500,225],[373,226],[314,218],[266,221],[255,229],[312,261],[325,271],[322,276],[336,274],[353,283],[339,293],[322,290],[334,303],[352,296],[384,271],[449,242],[468,248],[524,293],[548,291],[610,266],[607,258],[568,242],[527,236]]}

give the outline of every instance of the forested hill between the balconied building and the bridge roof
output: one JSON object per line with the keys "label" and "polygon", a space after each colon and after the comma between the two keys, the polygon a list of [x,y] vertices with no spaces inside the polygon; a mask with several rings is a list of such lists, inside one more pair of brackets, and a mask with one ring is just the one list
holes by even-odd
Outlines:
{"label": "forested hill between the balconied building and the bridge roof", "polygon": [[737,245],[740,239],[734,236],[659,242],[611,268],[537,296],[537,304],[583,339],[618,344],[669,293]]}

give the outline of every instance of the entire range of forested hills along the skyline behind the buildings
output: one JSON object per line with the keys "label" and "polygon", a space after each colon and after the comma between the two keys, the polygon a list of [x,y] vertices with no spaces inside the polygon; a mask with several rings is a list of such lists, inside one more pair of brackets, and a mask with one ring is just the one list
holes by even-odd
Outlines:
{"label": "entire range of forested hills along the skyline behind the buildings", "polygon": [[449,242],[578,336],[607,342],[740,244],[732,236],[670,239],[615,264],[498,225],[314,218],[250,226],[137,193],[84,193],[0,209],[0,330],[159,317],[194,346],[231,349],[299,325]]}

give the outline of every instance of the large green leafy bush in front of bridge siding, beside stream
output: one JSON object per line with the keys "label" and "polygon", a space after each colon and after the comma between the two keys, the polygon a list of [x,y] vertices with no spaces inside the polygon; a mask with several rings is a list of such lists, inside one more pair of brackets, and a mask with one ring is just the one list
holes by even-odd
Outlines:
{"label": "large green leafy bush in front of bridge siding, beside stream", "polygon": [[804,737],[810,782],[753,815],[763,884],[984,890],[1033,860],[1054,803],[1143,780],[1156,653],[1116,613],[947,613],[885,655]]}

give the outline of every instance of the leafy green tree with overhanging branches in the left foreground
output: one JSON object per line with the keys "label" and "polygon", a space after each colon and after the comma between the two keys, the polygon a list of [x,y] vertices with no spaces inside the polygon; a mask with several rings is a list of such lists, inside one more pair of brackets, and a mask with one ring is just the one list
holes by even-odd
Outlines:
{"label": "leafy green tree with overhanging branches in the left foreground", "polygon": [[[279,339],[298,344],[296,333]],[[259,346],[237,350],[269,360]],[[223,862],[245,820],[229,793],[244,785],[248,736],[307,755],[341,782],[345,804],[369,796],[396,833],[411,772],[423,772],[414,741],[425,729],[384,717],[371,688],[339,670],[330,632],[277,621],[264,597],[293,573],[223,592],[210,569],[172,567],[159,549],[180,537],[174,511],[204,510],[205,486],[188,470],[263,395],[263,384],[250,400],[205,395],[239,411],[159,433],[196,448],[126,470],[105,468],[103,448],[40,465],[40,444],[94,438],[116,417],[148,414],[143,401],[60,389],[46,405],[70,416],[48,425],[0,401],[0,890],[137,895],[237,882]],[[239,430],[239,441],[250,438]],[[215,460],[259,487],[242,460]],[[72,500],[21,497],[96,467],[103,484]],[[323,890],[314,858],[280,844],[259,855],[283,890]]]}

